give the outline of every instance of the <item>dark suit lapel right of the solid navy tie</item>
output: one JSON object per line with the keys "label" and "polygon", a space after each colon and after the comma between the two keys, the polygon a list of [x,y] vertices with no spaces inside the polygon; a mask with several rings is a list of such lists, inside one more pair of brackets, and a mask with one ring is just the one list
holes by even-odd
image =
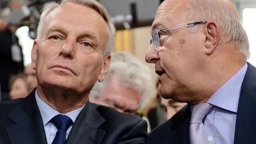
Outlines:
{"label": "dark suit lapel right of the solid navy tie", "polygon": [[95,106],[89,102],[86,103],[72,127],[66,144],[100,143],[105,135],[105,131],[98,129],[98,127],[104,121]]}

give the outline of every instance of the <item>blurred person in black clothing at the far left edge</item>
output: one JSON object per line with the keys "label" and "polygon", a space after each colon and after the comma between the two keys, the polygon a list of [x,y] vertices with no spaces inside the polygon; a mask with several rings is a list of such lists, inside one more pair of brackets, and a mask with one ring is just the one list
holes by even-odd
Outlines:
{"label": "blurred person in black clothing at the far left edge", "polygon": [[[15,31],[19,25],[8,24],[8,15],[14,9],[28,4],[27,0],[1,1],[0,11],[0,85],[2,100],[8,100],[8,81],[11,75],[23,72],[23,53]],[[3,4],[4,3],[4,4]]]}

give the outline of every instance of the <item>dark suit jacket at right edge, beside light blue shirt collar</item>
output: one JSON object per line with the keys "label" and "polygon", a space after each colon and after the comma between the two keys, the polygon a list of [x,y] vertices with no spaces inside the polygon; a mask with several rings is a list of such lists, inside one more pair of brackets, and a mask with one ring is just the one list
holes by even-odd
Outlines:
{"label": "dark suit jacket at right edge, beside light blue shirt collar", "polygon": [[248,63],[236,117],[234,143],[256,143],[256,68]]}

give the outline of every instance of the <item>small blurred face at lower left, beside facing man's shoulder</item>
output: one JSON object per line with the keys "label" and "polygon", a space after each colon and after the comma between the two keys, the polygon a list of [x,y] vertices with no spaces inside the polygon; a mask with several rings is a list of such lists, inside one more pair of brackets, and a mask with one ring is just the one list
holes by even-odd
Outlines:
{"label": "small blurred face at lower left, beside facing man's shoulder", "polygon": [[11,77],[9,81],[10,100],[27,97],[30,91],[28,91],[26,78],[27,77],[23,73]]}

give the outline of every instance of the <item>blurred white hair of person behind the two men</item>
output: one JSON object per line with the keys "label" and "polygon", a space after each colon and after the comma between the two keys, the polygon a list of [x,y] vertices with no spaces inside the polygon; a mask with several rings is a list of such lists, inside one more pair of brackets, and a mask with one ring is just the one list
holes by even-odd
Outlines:
{"label": "blurred white hair of person behind the two men", "polygon": [[144,108],[155,98],[156,87],[152,82],[150,69],[141,60],[127,52],[116,52],[112,54],[110,69],[104,81],[97,81],[95,83],[90,97],[99,97],[101,94],[104,94],[103,89],[112,76],[120,76],[121,87],[129,87],[134,91],[142,92],[138,109]]}

